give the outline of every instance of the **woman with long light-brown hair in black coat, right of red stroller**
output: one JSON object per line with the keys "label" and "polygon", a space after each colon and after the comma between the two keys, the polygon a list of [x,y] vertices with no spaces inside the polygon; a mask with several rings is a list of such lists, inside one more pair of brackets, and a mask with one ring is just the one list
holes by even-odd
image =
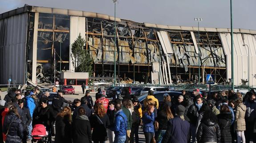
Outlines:
{"label": "woman with long light-brown hair in black coat, right of red stroller", "polygon": [[71,108],[64,107],[61,112],[57,114],[55,122],[55,140],[54,143],[72,143],[72,115]]}

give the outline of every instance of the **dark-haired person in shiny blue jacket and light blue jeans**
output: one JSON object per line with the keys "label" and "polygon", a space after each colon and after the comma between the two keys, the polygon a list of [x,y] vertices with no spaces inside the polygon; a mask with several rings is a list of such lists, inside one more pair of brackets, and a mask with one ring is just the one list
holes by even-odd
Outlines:
{"label": "dark-haired person in shiny blue jacket and light blue jeans", "polygon": [[115,114],[114,127],[111,128],[115,133],[114,143],[125,143],[128,120],[125,113],[122,111],[121,104],[116,104],[115,110],[117,112]]}

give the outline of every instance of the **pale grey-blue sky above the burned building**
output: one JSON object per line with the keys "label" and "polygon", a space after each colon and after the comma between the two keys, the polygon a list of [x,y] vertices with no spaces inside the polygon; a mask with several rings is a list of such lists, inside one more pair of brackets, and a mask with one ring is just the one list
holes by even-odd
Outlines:
{"label": "pale grey-blue sky above the burned building", "polygon": [[[24,4],[114,16],[112,0],[0,0],[0,13]],[[232,0],[233,28],[256,30],[256,0]],[[116,17],[173,26],[230,28],[230,0],[118,0]]]}

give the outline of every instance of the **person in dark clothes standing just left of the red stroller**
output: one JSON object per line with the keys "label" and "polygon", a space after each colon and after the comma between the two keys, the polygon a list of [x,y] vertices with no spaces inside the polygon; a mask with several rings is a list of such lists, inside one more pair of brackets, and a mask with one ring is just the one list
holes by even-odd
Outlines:
{"label": "person in dark clothes standing just left of the red stroller", "polygon": [[27,143],[27,135],[28,135],[28,125],[32,122],[32,117],[30,115],[29,109],[24,107],[24,100],[19,99],[18,104],[20,108],[22,109],[22,115],[21,121],[23,124],[23,138],[22,138],[22,143]]}

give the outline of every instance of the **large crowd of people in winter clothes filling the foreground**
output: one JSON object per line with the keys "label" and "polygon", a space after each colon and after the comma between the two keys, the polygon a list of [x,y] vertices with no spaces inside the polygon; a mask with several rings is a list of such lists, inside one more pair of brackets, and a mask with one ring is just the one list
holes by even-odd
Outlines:
{"label": "large crowd of people in winter clothes filling the foreground", "polygon": [[[84,91],[83,91],[84,92]],[[13,88],[0,100],[0,143],[26,143],[42,124],[47,143],[138,143],[141,126],[146,143],[256,143],[256,93],[223,90],[208,95],[199,89],[158,102],[149,91],[142,104],[125,96],[108,100],[98,89],[96,100],[85,91],[70,104],[62,91],[49,104],[49,92],[38,87]],[[55,127],[54,127],[55,125]]]}

